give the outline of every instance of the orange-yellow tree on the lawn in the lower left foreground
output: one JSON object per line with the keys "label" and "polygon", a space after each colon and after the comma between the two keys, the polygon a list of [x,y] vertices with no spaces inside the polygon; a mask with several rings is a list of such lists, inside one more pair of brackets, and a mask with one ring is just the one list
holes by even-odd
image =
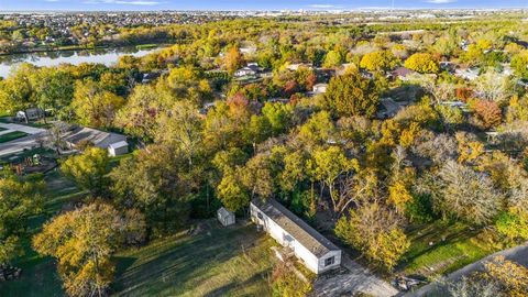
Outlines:
{"label": "orange-yellow tree on the lawn in the lower left foreground", "polygon": [[116,271],[111,256],[123,244],[130,219],[96,202],[45,223],[33,238],[33,248],[57,260],[68,295],[106,296]]}

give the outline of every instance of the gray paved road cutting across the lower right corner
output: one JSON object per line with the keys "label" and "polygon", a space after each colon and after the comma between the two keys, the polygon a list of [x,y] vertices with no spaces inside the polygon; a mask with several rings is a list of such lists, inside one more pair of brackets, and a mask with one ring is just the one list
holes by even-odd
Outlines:
{"label": "gray paved road cutting across the lower right corner", "polygon": [[[446,280],[448,282],[458,280],[462,278],[462,276],[464,275],[470,275],[473,272],[482,271],[484,270],[484,263],[493,260],[495,256],[501,256],[501,255],[504,256],[506,260],[517,262],[518,264],[528,267],[528,242],[522,245],[488,255],[481,261],[472,263],[459,271],[451,273],[450,275],[448,275]],[[429,294],[435,294],[435,292],[437,292],[438,289],[439,289],[439,284],[431,283],[427,286],[421,287],[417,292],[406,294],[405,297],[428,296]]]}

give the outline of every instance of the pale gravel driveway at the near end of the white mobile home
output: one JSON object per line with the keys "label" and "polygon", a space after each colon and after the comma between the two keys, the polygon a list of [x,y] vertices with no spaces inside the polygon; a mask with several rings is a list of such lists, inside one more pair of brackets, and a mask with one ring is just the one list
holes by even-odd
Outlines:
{"label": "pale gravel driveway at the near end of the white mobile home", "polygon": [[319,277],[314,283],[312,296],[338,297],[360,292],[376,297],[389,297],[398,294],[396,288],[351,260],[345,253],[343,253],[341,265],[348,272]]}

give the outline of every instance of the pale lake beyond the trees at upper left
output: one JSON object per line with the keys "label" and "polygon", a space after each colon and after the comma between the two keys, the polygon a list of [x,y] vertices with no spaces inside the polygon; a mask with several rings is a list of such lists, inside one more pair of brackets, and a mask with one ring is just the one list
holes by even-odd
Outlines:
{"label": "pale lake beyond the trees at upper left", "polygon": [[59,64],[79,65],[81,63],[100,63],[107,66],[116,64],[120,56],[145,56],[160,48],[138,50],[136,47],[119,47],[102,50],[79,50],[59,52],[37,52],[0,56],[0,77],[8,77],[13,66],[20,63],[31,63],[35,66],[51,67]]}

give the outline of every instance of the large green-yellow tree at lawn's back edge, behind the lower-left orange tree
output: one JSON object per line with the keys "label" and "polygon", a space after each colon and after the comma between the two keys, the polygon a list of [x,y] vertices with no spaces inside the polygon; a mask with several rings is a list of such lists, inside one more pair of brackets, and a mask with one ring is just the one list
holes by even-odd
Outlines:
{"label": "large green-yellow tree at lawn's back edge, behind the lower-left orange tree", "polygon": [[204,173],[183,152],[165,144],[150,145],[123,160],[109,175],[114,205],[145,215],[154,234],[182,227],[189,216],[189,199]]}

